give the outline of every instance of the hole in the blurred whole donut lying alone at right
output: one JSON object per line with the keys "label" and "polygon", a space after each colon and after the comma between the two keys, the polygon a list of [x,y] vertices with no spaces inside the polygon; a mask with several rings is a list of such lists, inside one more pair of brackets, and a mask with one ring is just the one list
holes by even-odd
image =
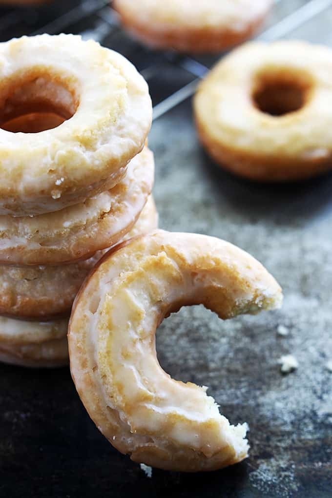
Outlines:
{"label": "hole in the blurred whole donut lying alone at right", "polygon": [[284,116],[302,109],[312,83],[306,75],[286,72],[262,74],[253,88],[254,106],[270,116]]}

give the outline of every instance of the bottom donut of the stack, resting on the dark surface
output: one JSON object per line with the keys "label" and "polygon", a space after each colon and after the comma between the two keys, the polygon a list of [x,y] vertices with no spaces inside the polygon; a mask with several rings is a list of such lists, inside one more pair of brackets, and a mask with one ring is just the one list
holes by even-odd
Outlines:
{"label": "bottom donut of the stack, resting on the dark surface", "polygon": [[0,316],[0,361],[22,367],[68,364],[67,320],[25,322]]}

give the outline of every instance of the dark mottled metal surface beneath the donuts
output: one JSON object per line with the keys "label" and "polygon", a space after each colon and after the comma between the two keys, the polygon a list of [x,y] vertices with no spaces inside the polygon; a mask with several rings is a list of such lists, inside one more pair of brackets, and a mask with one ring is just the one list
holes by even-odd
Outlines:
{"label": "dark mottled metal surface beneath the donuts", "polygon": [[[68,369],[0,366],[0,496],[332,497],[332,175],[269,186],[221,171],[197,141],[186,99],[213,58],[200,58],[201,66],[149,52],[124,35],[105,4],[5,9],[0,36],[82,32],[131,59],[156,106],[149,145],[160,226],[248,250],[283,286],[284,307],[229,322],[185,308],[158,330],[165,370],[209,385],[221,412],[250,426],[249,459],[207,475],[153,470],[147,478],[98,432]],[[280,0],[262,38],[332,44],[331,25],[332,1]],[[278,334],[280,326],[287,336]],[[289,353],[299,368],[282,375],[277,362]]]}

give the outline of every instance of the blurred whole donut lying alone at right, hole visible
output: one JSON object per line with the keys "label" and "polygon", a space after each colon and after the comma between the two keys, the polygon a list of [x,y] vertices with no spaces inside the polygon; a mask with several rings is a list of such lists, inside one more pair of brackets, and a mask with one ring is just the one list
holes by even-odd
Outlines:
{"label": "blurred whole donut lying alone at right, hole visible", "polygon": [[332,50],[248,43],[221,60],[194,100],[199,136],[222,167],[252,180],[312,177],[332,167]]}

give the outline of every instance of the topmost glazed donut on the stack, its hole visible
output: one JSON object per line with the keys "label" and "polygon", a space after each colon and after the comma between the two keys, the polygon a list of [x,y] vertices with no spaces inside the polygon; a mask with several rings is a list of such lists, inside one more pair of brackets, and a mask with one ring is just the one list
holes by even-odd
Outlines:
{"label": "topmost glazed donut on the stack, its hole visible", "polygon": [[0,44],[0,126],[31,113],[65,121],[40,133],[0,128],[0,214],[58,211],[116,185],[151,125],[148,87],[118,53],[80,36]]}

